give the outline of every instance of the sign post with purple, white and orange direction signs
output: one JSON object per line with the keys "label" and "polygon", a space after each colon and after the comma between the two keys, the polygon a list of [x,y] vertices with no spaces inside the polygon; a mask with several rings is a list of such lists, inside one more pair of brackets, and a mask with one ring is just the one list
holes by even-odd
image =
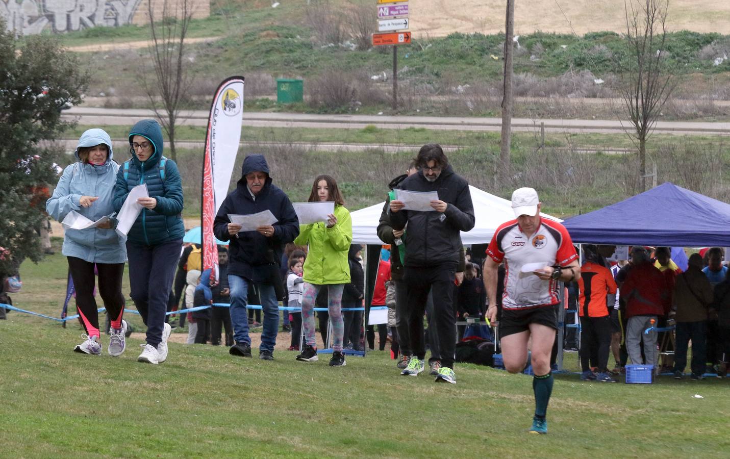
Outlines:
{"label": "sign post with purple, white and orange direction signs", "polygon": [[407,1],[377,0],[377,31],[379,33],[372,34],[373,46],[393,46],[393,111],[398,109],[398,45],[408,45],[411,39],[410,32],[407,32],[410,22]]}

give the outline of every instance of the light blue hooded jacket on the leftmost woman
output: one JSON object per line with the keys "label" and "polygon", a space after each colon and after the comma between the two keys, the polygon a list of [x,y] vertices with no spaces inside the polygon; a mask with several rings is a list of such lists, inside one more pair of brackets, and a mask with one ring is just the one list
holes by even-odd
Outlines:
{"label": "light blue hooded jacket on the leftmost woman", "polygon": [[[101,166],[82,163],[79,147],[107,145],[107,162]],[[46,201],[46,212],[55,220],[61,221],[75,210],[89,220],[99,220],[115,211],[112,193],[119,165],[112,161],[114,152],[112,140],[104,130],[93,128],[81,134],[74,152],[77,162],[66,166],[58,180],[53,196]],[[81,196],[98,196],[90,207],[81,207]],[[89,263],[124,263],[127,250],[114,231],[114,228],[86,228],[82,230],[66,228],[64,247],[61,252],[67,257],[81,258]]]}

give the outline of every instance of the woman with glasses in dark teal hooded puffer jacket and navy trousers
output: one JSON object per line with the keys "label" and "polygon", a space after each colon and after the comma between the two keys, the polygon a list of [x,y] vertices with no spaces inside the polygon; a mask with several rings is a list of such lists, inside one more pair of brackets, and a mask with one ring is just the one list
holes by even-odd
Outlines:
{"label": "woman with glasses in dark teal hooded puffer jacket and navy trousers", "polygon": [[174,161],[162,155],[162,130],[155,120],[142,120],[129,132],[132,158],[119,168],[114,208],[119,212],[129,191],[147,184],[147,198],[127,235],[131,297],[147,325],[147,343],[140,362],[162,363],[167,358],[170,325],[165,323],[167,300],[183,247],[183,185]]}

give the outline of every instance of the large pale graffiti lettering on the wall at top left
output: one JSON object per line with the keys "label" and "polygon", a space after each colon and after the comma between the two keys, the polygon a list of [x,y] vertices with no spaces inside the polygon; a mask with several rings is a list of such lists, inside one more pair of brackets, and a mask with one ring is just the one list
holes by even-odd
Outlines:
{"label": "large pale graffiti lettering on the wall at top left", "polygon": [[142,0],[0,0],[0,16],[16,34],[77,31],[123,26],[132,21]]}

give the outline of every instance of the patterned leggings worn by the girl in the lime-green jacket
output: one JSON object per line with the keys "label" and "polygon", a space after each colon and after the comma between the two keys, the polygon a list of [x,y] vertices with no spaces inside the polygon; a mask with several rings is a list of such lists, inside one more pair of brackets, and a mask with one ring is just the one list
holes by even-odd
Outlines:
{"label": "patterned leggings worn by the girl in the lime-green jacket", "polygon": [[342,320],[342,290],[345,284],[317,285],[304,282],[301,296],[301,325],[307,344],[316,347],[315,342],[315,300],[320,289],[327,288],[327,309],[332,323],[332,350],[342,352],[342,338],[345,336],[345,321]]}

